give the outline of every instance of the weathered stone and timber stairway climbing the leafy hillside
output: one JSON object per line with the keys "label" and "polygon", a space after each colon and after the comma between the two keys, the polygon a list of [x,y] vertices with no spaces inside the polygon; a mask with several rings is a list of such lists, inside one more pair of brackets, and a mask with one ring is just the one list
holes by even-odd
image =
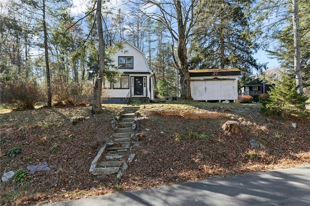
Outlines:
{"label": "weathered stone and timber stairway climbing the leafy hillside", "polygon": [[135,154],[131,152],[131,147],[136,142],[132,126],[138,109],[139,107],[124,107],[124,114],[118,122],[119,128],[112,134],[113,140],[101,147],[92,162],[90,172],[93,175],[117,174],[120,178],[128,167],[127,163],[132,162]]}

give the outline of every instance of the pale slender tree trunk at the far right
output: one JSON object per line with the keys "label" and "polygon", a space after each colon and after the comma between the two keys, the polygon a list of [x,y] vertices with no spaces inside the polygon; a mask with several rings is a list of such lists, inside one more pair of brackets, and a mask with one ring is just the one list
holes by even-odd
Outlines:
{"label": "pale slender tree trunk at the far right", "polygon": [[299,43],[299,22],[298,22],[298,0],[293,0],[293,31],[294,31],[294,71],[298,93],[304,92],[302,74],[300,70],[300,43]]}

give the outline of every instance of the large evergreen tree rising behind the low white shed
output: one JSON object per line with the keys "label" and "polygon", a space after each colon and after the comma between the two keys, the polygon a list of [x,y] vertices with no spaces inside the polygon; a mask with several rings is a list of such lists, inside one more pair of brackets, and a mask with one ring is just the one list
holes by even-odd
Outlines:
{"label": "large evergreen tree rising behind the low white shed", "polygon": [[253,58],[259,48],[246,14],[250,1],[205,0],[190,46],[190,68],[238,68],[245,78],[265,64]]}

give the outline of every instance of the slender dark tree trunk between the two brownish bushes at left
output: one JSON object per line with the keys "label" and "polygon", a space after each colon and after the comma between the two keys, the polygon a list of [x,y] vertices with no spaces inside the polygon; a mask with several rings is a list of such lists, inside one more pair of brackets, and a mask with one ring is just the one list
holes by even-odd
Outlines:
{"label": "slender dark tree trunk between the two brownish bushes at left", "polygon": [[45,0],[43,0],[43,29],[44,29],[44,48],[45,48],[45,64],[47,70],[47,108],[52,107],[52,91],[50,86],[48,48],[47,48],[47,23],[45,21]]}

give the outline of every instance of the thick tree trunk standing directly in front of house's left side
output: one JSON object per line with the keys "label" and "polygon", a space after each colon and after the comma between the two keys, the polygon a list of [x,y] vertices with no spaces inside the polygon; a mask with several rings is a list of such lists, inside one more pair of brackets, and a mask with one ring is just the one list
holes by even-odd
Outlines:
{"label": "thick tree trunk standing directly in front of house's left side", "polygon": [[102,21],[101,21],[101,0],[97,0],[97,27],[98,27],[98,37],[99,37],[99,74],[96,77],[95,85],[93,87],[93,107],[92,113],[100,113],[101,110],[101,89],[102,89],[102,78],[105,71],[105,44],[102,31]]}

